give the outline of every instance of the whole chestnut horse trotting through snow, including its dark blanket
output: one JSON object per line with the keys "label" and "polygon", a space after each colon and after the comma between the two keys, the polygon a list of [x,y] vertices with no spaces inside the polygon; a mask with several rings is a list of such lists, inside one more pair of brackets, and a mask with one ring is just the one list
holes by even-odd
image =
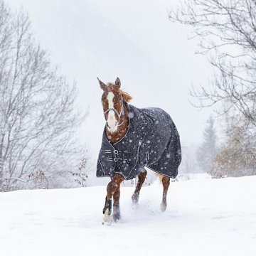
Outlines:
{"label": "whole chestnut horse trotting through snow, including its dark blanket", "polygon": [[132,203],[138,203],[147,174],[145,166],[156,172],[161,180],[161,211],[164,212],[170,178],[176,178],[181,163],[181,144],[174,122],[160,108],[139,109],[130,105],[132,97],[120,89],[119,78],[107,84],[99,78],[97,80],[103,90],[101,100],[106,122],[97,161],[97,177],[111,178],[107,184],[104,219],[120,220],[120,185],[124,180],[138,177],[132,195]]}

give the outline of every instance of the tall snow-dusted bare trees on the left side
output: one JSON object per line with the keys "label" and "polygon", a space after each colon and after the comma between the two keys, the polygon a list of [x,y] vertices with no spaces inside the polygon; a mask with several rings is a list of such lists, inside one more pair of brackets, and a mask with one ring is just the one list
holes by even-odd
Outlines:
{"label": "tall snow-dusted bare trees on the left side", "polygon": [[50,65],[46,51],[33,40],[27,14],[11,12],[0,0],[2,189],[33,187],[28,176],[38,171],[49,183],[57,174],[70,173],[74,158],[82,154],[72,140],[81,120],[74,101],[75,84],[68,85]]}

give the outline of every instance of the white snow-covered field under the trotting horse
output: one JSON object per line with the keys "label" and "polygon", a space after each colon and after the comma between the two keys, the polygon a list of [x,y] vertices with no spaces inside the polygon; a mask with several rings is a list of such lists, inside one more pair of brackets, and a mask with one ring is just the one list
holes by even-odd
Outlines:
{"label": "white snow-covered field under the trotting horse", "polygon": [[0,193],[0,255],[256,255],[256,176],[122,188],[122,222],[102,225],[105,187]]}

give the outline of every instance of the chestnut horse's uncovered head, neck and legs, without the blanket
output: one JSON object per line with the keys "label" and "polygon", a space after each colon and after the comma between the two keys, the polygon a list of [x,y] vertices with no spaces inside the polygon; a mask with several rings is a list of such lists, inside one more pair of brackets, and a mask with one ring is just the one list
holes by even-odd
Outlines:
{"label": "chestnut horse's uncovered head, neck and legs, without the blanket", "polygon": [[[104,82],[100,81],[99,78],[97,79],[100,82],[101,89],[103,90],[102,107],[106,120],[104,136],[107,137],[107,140],[109,140],[110,144],[114,145],[122,140],[122,138],[127,134],[127,129],[129,129],[128,102],[132,100],[132,97],[127,92],[123,92],[122,90],[120,90],[121,82],[119,78],[117,78],[114,83],[109,82],[107,83],[107,85]],[[139,171],[137,171],[136,175],[139,180],[132,195],[133,203],[138,203],[139,201],[139,192],[146,178],[146,169],[140,169]],[[167,206],[166,196],[170,184],[170,177],[161,175],[161,172],[157,175],[159,176],[161,183],[164,187],[161,201],[161,210],[164,211],[166,210]],[[124,175],[122,175],[122,172],[116,172],[114,170],[109,176],[111,177],[111,181],[107,184],[107,196],[105,198],[103,214],[105,214],[105,216],[111,214],[113,197],[114,203],[112,218],[115,222],[117,222],[117,220],[121,218],[119,209],[120,184],[122,183],[122,181],[124,181],[125,178]]]}

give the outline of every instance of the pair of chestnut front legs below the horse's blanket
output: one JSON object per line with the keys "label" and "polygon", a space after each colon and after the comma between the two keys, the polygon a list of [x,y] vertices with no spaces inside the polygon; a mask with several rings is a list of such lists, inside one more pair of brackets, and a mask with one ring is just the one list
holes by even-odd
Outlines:
{"label": "pair of chestnut front legs below the horse's blanket", "polygon": [[103,214],[106,213],[110,215],[112,212],[112,196],[114,196],[114,221],[119,220],[120,210],[119,210],[119,198],[120,198],[120,184],[124,181],[124,177],[121,174],[114,174],[111,178],[110,183],[107,184],[107,196],[105,200],[105,206],[103,208]]}

